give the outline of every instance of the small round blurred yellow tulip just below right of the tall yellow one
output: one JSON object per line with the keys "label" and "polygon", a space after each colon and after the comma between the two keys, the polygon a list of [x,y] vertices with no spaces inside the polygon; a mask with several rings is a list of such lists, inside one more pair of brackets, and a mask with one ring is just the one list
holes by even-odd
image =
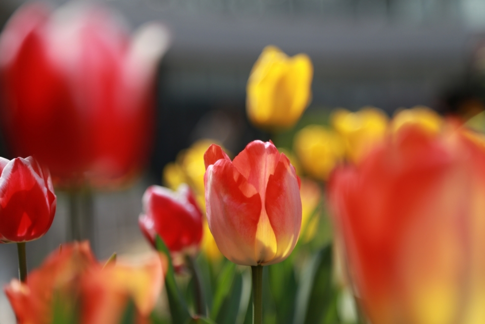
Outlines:
{"label": "small round blurred yellow tulip just below right of the tall yellow one", "polygon": [[342,137],[320,125],[308,125],[301,129],[295,135],[293,148],[305,172],[320,180],[326,180],[345,155]]}

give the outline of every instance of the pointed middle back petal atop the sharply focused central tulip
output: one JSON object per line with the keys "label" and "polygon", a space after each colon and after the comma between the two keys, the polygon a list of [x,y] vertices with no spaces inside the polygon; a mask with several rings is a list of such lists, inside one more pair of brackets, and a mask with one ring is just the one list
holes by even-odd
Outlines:
{"label": "pointed middle back petal atop the sharply focused central tulip", "polygon": [[261,195],[264,204],[266,184],[268,178],[274,173],[279,161],[280,153],[271,142],[254,141],[246,146],[232,161],[234,167]]}

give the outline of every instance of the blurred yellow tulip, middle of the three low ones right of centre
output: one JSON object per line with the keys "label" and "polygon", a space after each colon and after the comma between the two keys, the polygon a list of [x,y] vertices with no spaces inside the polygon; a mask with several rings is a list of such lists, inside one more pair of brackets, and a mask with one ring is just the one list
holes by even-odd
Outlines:
{"label": "blurred yellow tulip, middle of the three low ones right of centre", "polygon": [[354,163],[383,140],[389,122],[387,115],[375,107],[363,107],[354,113],[339,108],[330,119],[333,128],[344,138],[348,159]]}

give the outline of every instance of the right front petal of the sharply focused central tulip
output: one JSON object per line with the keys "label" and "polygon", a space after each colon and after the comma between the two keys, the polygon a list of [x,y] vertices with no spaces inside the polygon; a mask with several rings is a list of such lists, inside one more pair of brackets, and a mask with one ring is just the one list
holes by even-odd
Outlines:
{"label": "right front petal of the sharply focused central tulip", "polygon": [[269,176],[266,213],[277,242],[277,251],[266,264],[283,261],[295,248],[302,224],[302,202],[298,177],[288,158],[281,154],[274,174]]}

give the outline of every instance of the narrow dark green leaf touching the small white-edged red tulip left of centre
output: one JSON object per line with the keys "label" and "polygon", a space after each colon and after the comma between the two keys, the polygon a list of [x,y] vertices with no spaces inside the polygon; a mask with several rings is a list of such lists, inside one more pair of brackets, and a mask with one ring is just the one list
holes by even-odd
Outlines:
{"label": "narrow dark green leaf touching the small white-edged red tulip left of centre", "polygon": [[173,270],[170,252],[160,236],[157,235],[155,243],[157,250],[167,255],[168,259],[168,269],[167,274],[165,275],[165,288],[167,290],[172,322],[173,324],[184,324],[188,319],[190,319],[190,313],[188,312],[187,304],[185,303],[185,300],[177,287],[177,283],[175,282],[175,271]]}

